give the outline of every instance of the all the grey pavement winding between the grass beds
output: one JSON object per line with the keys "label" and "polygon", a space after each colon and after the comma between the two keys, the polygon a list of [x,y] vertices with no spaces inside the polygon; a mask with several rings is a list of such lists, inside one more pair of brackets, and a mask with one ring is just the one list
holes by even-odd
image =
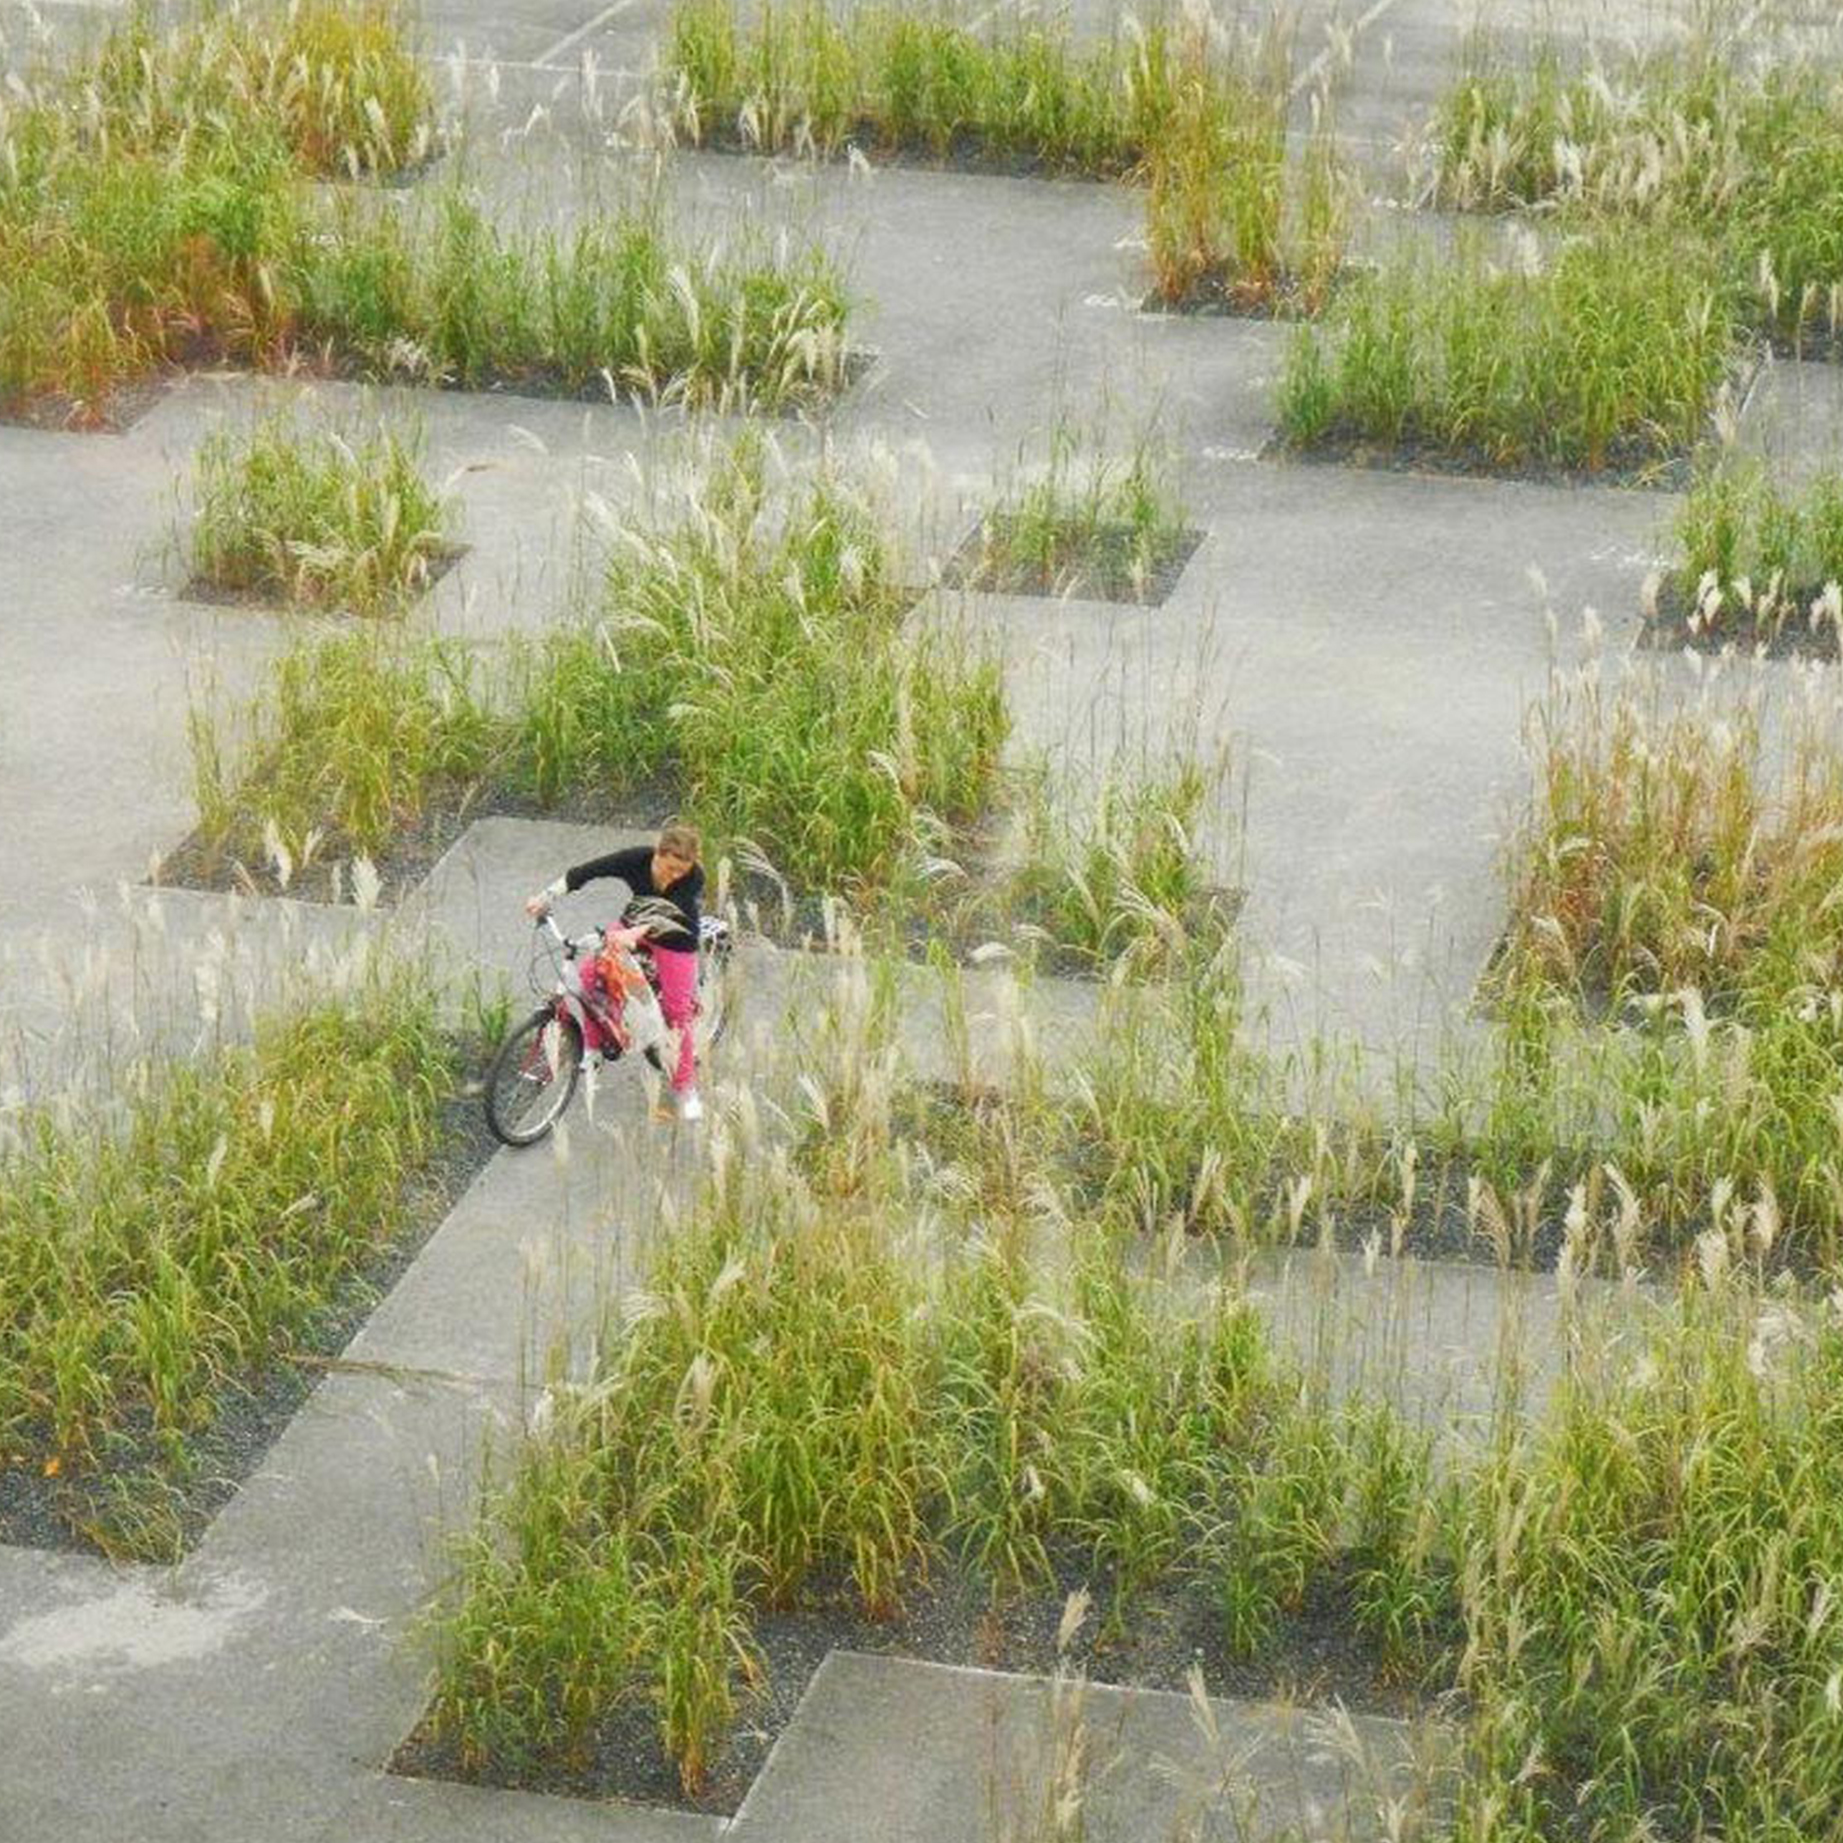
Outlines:
{"label": "all the grey pavement winding between the grass beds", "polygon": [[[490,18],[470,0],[428,11],[439,44],[466,41],[501,61],[520,120],[531,101],[553,112],[503,155],[494,184],[529,168],[571,208],[584,53],[610,81],[641,68],[660,11],[651,0],[534,0]],[[53,0],[41,13],[66,31],[94,9]],[[1362,17],[1342,120],[1353,140],[1386,147],[1436,94],[1469,7],[1373,0]],[[11,42],[22,29],[22,9],[0,6],[0,33]],[[1460,1028],[1500,925],[1493,840],[1524,785],[1519,724],[1548,669],[1544,599],[1528,571],[1543,573],[1565,621],[1594,605],[1614,638],[1629,634],[1668,498],[1261,461],[1283,334],[1139,315],[1137,210],[1108,188],[898,170],[864,181],[717,157],[680,157],[675,182],[695,210],[741,201],[815,216],[850,256],[868,297],[863,337],[881,359],[839,433],[892,448],[923,533],[958,529],[993,464],[1058,402],[1106,391],[1124,411],[1163,405],[1207,534],[1174,599],[1121,610],[988,597],[973,610],[1004,641],[1021,741],[1080,772],[1156,752],[1174,711],[1194,719],[1237,763],[1231,809],[1207,844],[1250,890],[1250,962],[1275,1036],[1325,1028],[1386,1058]],[[135,1032],[184,1041],[201,993],[234,1012],[278,968],[324,966],[382,927],[429,944],[455,971],[516,968],[518,898],[540,866],[581,855],[557,828],[481,826],[396,920],[116,894],[190,822],[190,689],[203,675],[252,684],[282,643],[275,621],[177,599],[173,481],[214,418],[288,389],[194,378],[120,437],[0,428],[0,1041],[26,1080],[55,1082]],[[1782,365],[1749,400],[1745,433],[1778,453],[1826,453],[1834,405],[1830,372]],[[617,494],[621,463],[660,431],[619,407],[450,394],[413,407],[431,470],[457,477],[472,547],[429,617],[488,645],[546,619],[568,581],[581,496]],[[757,1023],[807,977],[767,953],[748,975]],[[98,1027],[123,992],[133,1019]],[[1001,997],[992,984],[975,1006],[1003,1008]],[[1036,1003],[1056,1027],[1082,1023],[1078,992],[1045,984]],[[925,1063],[925,982],[910,1030]],[[984,1041],[1003,1052],[997,1027]],[[732,1073],[746,1080],[746,1058]],[[181,1568],[0,1548],[0,1837],[651,1843],[724,1828],[382,1771],[422,1707],[409,1633],[440,1532],[472,1511],[483,1432],[523,1410],[522,1355],[579,1321],[632,1259],[658,1187],[687,1168],[638,1108],[634,1089],[616,1089],[593,1130],[577,1119],[566,1157],[501,1154],[481,1174]],[[1520,1307],[1476,1270],[1342,1262],[1327,1277],[1299,1257],[1255,1290],[1285,1336],[1310,1347],[1329,1331],[1347,1353],[1375,1353],[1358,1380],[1406,1379],[1443,1421],[1489,1406],[1480,1379],[1506,1340],[1526,1347],[1535,1399],[1554,1375],[1552,1283],[1517,1288]],[[1419,1360],[1428,1347],[1438,1364]],[[990,1755],[969,1753],[1003,1734],[1006,1758],[1036,1758],[1041,1696],[840,1657],[735,1834],[1003,1834],[977,1797]],[[1159,1756],[1185,1755],[1191,1780],[1207,1778],[1215,1756],[1196,1753],[1192,1714],[1170,1699],[1091,1697],[1130,1764],[1087,1836],[1133,1836],[1146,1788],[1168,1799],[1183,1780],[1161,1777]],[[1262,1708],[1218,1705],[1216,1720],[1257,1778],[1285,1782],[1266,1801],[1275,1823],[1332,1834],[1345,1815],[1366,1821],[1347,1745]],[[1358,1738],[1384,1760],[1406,1743],[1382,1727]],[[1222,1799],[1226,1814],[1231,1793]]]}

